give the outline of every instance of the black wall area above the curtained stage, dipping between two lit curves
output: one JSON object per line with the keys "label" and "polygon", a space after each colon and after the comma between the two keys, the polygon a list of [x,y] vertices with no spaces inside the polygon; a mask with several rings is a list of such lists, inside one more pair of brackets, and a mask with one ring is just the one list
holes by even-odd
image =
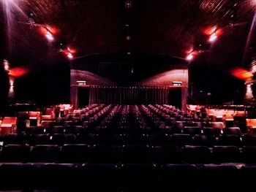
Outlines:
{"label": "black wall area above the curtained stage, dipping between two lit curves", "polygon": [[[144,53],[90,55],[72,61],[72,69],[91,72],[118,85],[134,85],[172,69],[186,69],[180,58]],[[171,82],[170,82],[171,83]]]}

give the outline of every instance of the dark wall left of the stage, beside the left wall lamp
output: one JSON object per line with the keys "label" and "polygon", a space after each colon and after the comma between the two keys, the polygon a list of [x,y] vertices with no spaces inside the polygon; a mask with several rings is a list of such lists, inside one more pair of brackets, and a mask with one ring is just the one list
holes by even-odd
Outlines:
{"label": "dark wall left of the stage, beside the left wall lamp", "polygon": [[51,66],[15,80],[16,101],[37,104],[69,103],[69,66]]}

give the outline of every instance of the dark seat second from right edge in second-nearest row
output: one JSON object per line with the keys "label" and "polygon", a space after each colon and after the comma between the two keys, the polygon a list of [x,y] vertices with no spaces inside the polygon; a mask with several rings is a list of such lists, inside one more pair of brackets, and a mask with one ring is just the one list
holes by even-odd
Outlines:
{"label": "dark seat second from right edge in second-nearest row", "polygon": [[236,146],[214,146],[213,158],[217,164],[239,163],[241,162],[241,153]]}

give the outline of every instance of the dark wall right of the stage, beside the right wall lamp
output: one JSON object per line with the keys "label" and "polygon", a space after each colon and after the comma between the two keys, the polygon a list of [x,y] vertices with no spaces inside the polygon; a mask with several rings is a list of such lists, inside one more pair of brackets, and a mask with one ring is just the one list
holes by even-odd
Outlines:
{"label": "dark wall right of the stage, beside the right wall lamp", "polygon": [[[189,82],[199,91],[199,97],[204,98],[203,104],[206,101],[208,104],[229,101],[242,104],[245,94],[244,80],[233,77],[231,71],[232,69],[194,63],[189,66]],[[210,98],[207,98],[207,93],[211,93]]]}

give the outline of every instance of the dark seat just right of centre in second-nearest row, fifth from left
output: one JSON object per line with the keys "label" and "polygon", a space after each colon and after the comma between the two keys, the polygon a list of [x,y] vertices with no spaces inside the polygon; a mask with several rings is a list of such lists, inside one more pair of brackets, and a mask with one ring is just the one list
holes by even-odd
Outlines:
{"label": "dark seat just right of centre in second-nearest row, fifth from left", "polygon": [[151,163],[150,149],[147,145],[125,145],[121,149],[123,164]]}

